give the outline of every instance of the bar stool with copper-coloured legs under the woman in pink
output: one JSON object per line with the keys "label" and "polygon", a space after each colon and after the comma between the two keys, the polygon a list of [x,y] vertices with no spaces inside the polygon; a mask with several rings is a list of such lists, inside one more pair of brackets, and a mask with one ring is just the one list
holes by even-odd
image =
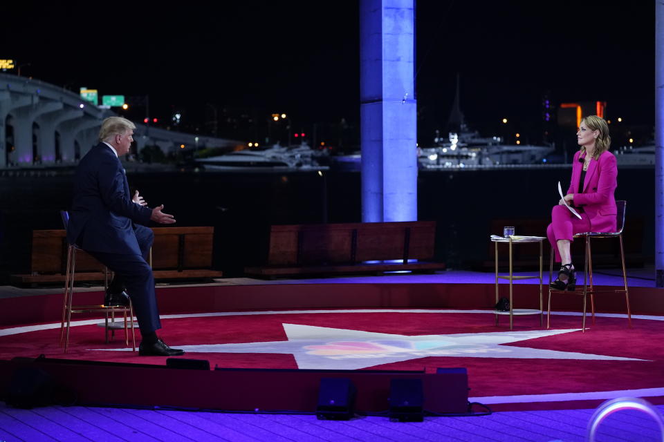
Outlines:
{"label": "bar stool with copper-coloured legs under the woman in pink", "polygon": [[[583,297],[583,319],[582,319],[582,332],[586,331],[586,297],[590,296],[590,308],[592,314],[592,321],[595,324],[595,298],[596,293],[622,293],[625,292],[625,301],[627,302],[627,325],[631,327],[631,309],[629,307],[629,289],[627,289],[627,268],[625,267],[625,249],[623,247],[623,229],[625,229],[625,210],[627,209],[627,201],[616,201],[616,208],[618,209],[616,215],[616,226],[618,227],[615,232],[583,232],[575,234],[574,238],[584,238],[585,244],[585,257],[583,265],[583,289],[575,289],[574,291],[556,290],[551,287],[548,288],[548,314],[546,315],[546,329],[551,327],[551,294],[572,294]],[[591,238],[618,238],[620,240],[620,262],[623,265],[623,282],[625,289],[613,290],[598,290],[593,286],[593,258],[590,247]],[[555,246],[554,246],[555,247]],[[551,247],[551,261],[548,269],[548,281],[553,281],[553,247]]]}

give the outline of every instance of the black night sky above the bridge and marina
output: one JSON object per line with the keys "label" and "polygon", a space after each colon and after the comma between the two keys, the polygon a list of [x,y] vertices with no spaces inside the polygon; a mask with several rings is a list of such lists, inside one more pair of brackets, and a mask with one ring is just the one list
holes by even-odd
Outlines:
{"label": "black night sky above the bridge and marina", "polygon": [[[288,113],[302,130],[359,123],[356,1],[97,4],[6,2],[0,58],[75,92],[149,95],[151,117],[183,111],[200,131],[208,104]],[[606,101],[609,118],[652,131],[654,2],[419,0],[416,72],[420,143],[445,128],[457,73],[461,109],[483,135],[502,117],[536,131],[544,93]]]}

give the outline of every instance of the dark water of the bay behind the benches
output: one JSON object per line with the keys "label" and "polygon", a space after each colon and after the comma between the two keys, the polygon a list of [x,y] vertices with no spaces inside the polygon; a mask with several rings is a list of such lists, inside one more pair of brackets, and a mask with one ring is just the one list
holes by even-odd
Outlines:
{"label": "dark water of the bay behind the benches", "polygon": [[[267,256],[270,224],[361,221],[360,174],[129,173],[151,206],[165,204],[180,226],[214,226],[214,267],[240,276]],[[0,177],[0,284],[30,271],[33,229],[61,229],[59,211],[71,200],[73,175]],[[546,225],[568,169],[421,171],[418,218],[437,222],[436,259],[448,267],[480,268],[490,260],[493,220]],[[625,240],[654,257],[654,169],[620,169],[616,199],[628,202]],[[522,223],[523,224],[523,223]],[[631,229],[630,229],[631,226]]]}

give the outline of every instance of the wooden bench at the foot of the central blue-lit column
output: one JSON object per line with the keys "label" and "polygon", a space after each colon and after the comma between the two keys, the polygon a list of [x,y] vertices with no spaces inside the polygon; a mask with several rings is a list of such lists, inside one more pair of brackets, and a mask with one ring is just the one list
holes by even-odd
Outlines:
{"label": "wooden bench at the foot of the central blue-lit column", "polygon": [[248,276],[444,269],[434,258],[436,222],[359,222],[270,227],[267,265]]}

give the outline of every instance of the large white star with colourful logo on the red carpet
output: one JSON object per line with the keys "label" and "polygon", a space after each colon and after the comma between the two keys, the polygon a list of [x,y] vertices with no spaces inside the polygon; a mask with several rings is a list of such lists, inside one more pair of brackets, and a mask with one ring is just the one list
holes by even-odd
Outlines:
{"label": "large white star with colourful logo on the red carpet", "polygon": [[617,356],[502,345],[578,332],[580,329],[407,336],[312,325],[283,324],[283,326],[288,340],[239,344],[176,345],[176,347],[187,353],[293,354],[297,367],[300,369],[362,369],[427,356],[643,361],[643,359]]}

